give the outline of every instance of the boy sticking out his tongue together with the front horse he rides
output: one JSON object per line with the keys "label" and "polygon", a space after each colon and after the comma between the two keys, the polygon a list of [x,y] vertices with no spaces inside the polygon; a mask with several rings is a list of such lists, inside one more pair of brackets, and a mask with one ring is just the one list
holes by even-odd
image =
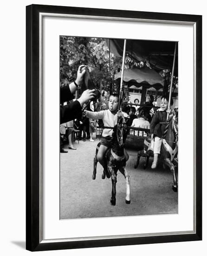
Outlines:
{"label": "boy sticking out his tongue together with the front horse he rides", "polygon": [[85,111],[84,114],[89,118],[103,119],[104,129],[101,142],[97,144],[96,155],[94,157],[94,169],[92,179],[96,179],[97,162],[103,166],[102,179],[111,177],[112,191],[110,203],[116,205],[116,182],[117,171],[119,170],[126,181],[125,202],[130,203],[130,178],[126,170],[126,161],[129,159],[124,143],[127,137],[127,125],[118,111],[118,94],[110,95],[109,109],[100,112]]}

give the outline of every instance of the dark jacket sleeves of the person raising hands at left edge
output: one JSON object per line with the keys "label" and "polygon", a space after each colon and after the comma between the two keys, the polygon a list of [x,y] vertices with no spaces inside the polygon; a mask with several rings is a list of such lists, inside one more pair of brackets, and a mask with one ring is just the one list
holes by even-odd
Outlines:
{"label": "dark jacket sleeves of the person raising hands at left edge", "polygon": [[[60,87],[60,104],[74,98],[69,86]],[[82,108],[79,101],[73,101],[65,106],[60,106],[60,124],[71,121],[82,115]]]}

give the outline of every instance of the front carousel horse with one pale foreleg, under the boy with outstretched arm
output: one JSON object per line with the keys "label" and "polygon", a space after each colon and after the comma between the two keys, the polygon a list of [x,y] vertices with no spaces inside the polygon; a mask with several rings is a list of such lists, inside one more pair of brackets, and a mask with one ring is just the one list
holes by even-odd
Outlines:
{"label": "front carousel horse with one pale foreleg, under the boy with outstretched arm", "polygon": [[[116,182],[117,171],[119,170],[126,180],[126,199],[127,204],[130,203],[130,178],[126,170],[126,159],[124,156],[124,143],[127,137],[127,125],[124,118],[120,118],[118,124],[113,128],[113,146],[107,149],[105,153],[105,168],[103,170],[102,179],[107,176],[111,177],[112,191],[110,203],[116,205]],[[94,168],[92,179],[96,179],[97,173],[97,153],[100,146],[100,142],[97,144],[96,155],[94,157]]]}

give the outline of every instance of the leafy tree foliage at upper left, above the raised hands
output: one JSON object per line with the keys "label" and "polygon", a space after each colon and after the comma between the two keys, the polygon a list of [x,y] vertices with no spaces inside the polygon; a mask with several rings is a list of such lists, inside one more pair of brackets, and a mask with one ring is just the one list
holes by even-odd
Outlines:
{"label": "leafy tree foliage at upper left, above the raised hands", "polygon": [[110,87],[110,66],[114,62],[102,38],[60,38],[60,84],[74,81],[79,65],[87,65],[94,84],[103,89]]}

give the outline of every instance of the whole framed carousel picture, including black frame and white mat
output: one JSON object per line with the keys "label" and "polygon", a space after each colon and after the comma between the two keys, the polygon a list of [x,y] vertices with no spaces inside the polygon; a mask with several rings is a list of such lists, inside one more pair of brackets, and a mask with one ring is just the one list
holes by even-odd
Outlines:
{"label": "whole framed carousel picture, including black frame and white mat", "polygon": [[201,38],[201,15],[26,7],[26,249],[202,239]]}

